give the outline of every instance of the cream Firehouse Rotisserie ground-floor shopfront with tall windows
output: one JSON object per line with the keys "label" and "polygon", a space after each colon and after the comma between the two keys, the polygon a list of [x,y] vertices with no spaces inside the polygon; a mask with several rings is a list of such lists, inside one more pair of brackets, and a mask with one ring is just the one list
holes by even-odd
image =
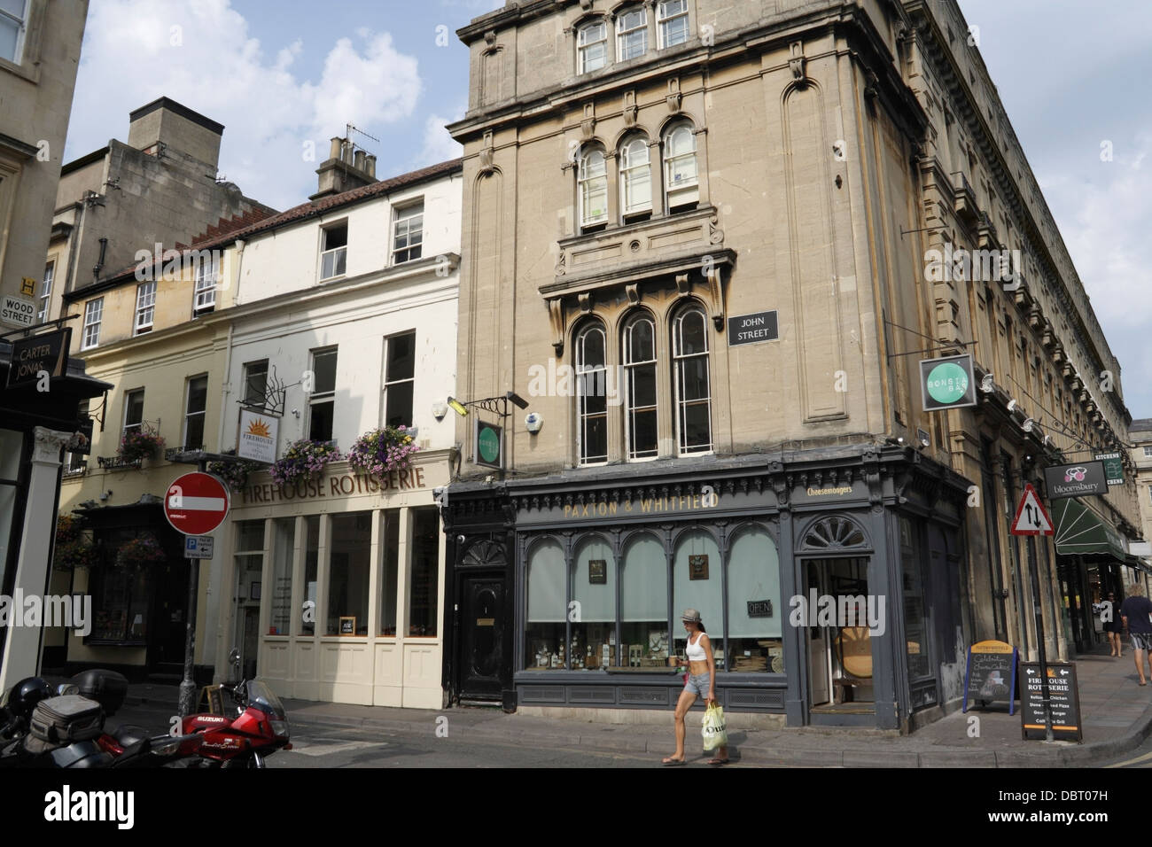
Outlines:
{"label": "cream Firehouse Rotisserie ground-floor shopfront with tall windows", "polygon": [[220,649],[238,646],[245,672],[255,664],[281,696],[441,708],[433,489],[447,481],[447,453],[431,451],[379,479],[343,461],[295,485],[252,474],[228,516],[233,611]]}

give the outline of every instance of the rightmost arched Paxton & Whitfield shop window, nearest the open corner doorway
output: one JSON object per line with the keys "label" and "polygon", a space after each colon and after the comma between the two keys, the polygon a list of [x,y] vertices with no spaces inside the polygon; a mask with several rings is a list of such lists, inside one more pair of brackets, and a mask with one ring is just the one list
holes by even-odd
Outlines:
{"label": "rightmost arched Paxton & Whitfield shop window, nearest the open corner doorway", "polygon": [[741,530],[728,552],[728,670],[783,673],[787,611],[780,606],[775,542],[759,527]]}

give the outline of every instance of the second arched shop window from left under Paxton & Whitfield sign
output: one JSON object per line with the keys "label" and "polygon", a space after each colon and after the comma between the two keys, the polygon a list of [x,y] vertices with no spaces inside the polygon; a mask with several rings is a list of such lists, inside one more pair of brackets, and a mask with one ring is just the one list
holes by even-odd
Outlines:
{"label": "second arched shop window from left under Paxton & Whitfield sign", "polygon": [[604,538],[590,536],[577,547],[569,596],[570,668],[607,667],[615,646],[616,561]]}

